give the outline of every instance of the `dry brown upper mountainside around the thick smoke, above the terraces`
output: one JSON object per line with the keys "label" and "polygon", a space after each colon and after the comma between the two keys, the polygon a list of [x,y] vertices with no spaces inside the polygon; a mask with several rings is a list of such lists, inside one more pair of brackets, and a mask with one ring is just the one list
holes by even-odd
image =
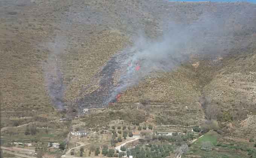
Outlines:
{"label": "dry brown upper mountainside around the thick smoke, above the terraces", "polygon": [[[153,73],[124,91],[119,102],[150,99],[185,105],[196,111],[195,117],[201,120],[203,114],[197,101],[202,94],[222,102],[223,109],[238,103],[242,95],[251,101],[256,99],[256,47],[253,45],[256,16],[251,12],[256,6],[253,4],[162,0],[5,0],[1,4],[1,111],[36,109],[41,114],[49,113],[48,117],[55,115],[52,107],[56,105],[47,90],[45,65],[49,69],[56,66],[61,71],[64,104],[88,106],[90,102],[102,102],[108,95],[108,84],[114,79],[101,85],[101,75],[116,72],[115,64],[108,65],[108,61],[133,44],[138,30],[155,39],[162,35],[168,21],[189,23],[206,12],[228,17],[225,29],[235,34],[234,49],[215,58],[191,56],[174,71]],[[241,12],[247,18],[236,21]],[[52,70],[53,78],[58,80],[57,70]],[[191,119],[186,110],[183,112]]]}

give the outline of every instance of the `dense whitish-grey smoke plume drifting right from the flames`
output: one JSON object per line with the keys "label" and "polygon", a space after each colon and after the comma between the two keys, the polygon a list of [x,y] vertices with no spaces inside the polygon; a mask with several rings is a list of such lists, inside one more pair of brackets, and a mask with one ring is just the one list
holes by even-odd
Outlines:
{"label": "dense whitish-grey smoke plume drifting right from the flames", "polygon": [[[255,12],[255,11],[254,11]],[[247,15],[238,15],[233,23],[241,26],[248,24]],[[171,23],[163,31],[163,36],[150,40],[144,35],[134,40],[134,46],[126,48],[119,55],[120,65],[126,66],[126,73],[120,76],[119,85],[112,90],[107,102],[117,94],[139,83],[145,76],[154,71],[172,71],[192,54],[223,55],[235,48],[235,35],[242,30],[227,27],[228,15],[218,18],[216,15],[201,15],[198,20],[189,24]],[[253,28],[255,31],[255,27]],[[250,44],[247,40],[239,41],[239,47]],[[140,66],[139,73],[136,65]],[[125,67],[124,67],[125,68]]]}

